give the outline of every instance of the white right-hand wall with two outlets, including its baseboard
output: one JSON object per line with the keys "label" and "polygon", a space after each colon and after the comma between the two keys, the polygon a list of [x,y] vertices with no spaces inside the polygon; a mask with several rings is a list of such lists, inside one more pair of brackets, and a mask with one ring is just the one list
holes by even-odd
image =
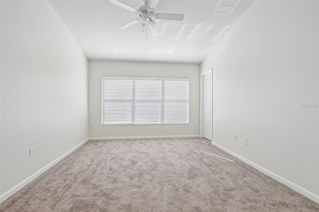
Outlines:
{"label": "white right-hand wall with two outlets, including its baseboard", "polygon": [[209,68],[216,145],[319,203],[319,2],[256,1]]}

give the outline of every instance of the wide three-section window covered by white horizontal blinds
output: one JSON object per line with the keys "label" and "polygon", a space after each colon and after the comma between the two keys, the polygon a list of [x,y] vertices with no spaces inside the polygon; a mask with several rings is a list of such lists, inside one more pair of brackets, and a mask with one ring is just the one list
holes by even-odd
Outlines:
{"label": "wide three-section window covered by white horizontal blinds", "polygon": [[188,123],[188,78],[102,77],[102,124]]}

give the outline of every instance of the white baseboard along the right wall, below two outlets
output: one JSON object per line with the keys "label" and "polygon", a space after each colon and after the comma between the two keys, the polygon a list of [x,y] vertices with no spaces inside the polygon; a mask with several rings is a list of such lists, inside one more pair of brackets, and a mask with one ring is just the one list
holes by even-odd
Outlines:
{"label": "white baseboard along the right wall, below two outlets", "polygon": [[237,155],[236,153],[230,151],[229,149],[226,149],[225,147],[223,147],[223,146],[221,146],[221,145],[219,145],[217,143],[212,143],[212,144],[214,146],[217,146],[218,148],[224,150],[225,152],[231,154],[232,156],[238,158],[239,160],[247,163],[248,165],[254,167],[258,171],[268,175],[269,177],[279,181],[280,183],[286,185],[287,187],[289,187],[289,188],[295,190],[296,192],[304,195],[305,197],[311,199],[312,201],[314,201],[316,203],[319,203],[319,195],[316,195],[315,193],[312,193],[312,192],[308,191],[307,189],[304,189],[303,187],[298,186],[297,184],[295,184],[295,183],[293,183],[293,182],[291,182],[291,181],[289,181],[289,180],[287,180],[287,179],[285,179],[285,178],[283,178],[283,177],[281,177],[281,176],[279,176],[279,175],[277,175],[277,174],[275,174],[275,173],[273,173],[273,172],[271,172],[271,171],[259,166],[258,164],[254,163],[254,162],[251,162],[250,160],[247,160],[246,158],[244,158],[244,157],[242,157],[240,155]]}

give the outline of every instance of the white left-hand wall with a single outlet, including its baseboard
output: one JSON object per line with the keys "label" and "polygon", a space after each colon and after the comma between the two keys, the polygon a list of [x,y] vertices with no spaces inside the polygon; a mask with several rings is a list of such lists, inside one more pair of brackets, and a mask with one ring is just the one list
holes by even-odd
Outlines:
{"label": "white left-hand wall with a single outlet, including its baseboard", "polygon": [[87,70],[47,1],[1,1],[1,201],[88,138]]}

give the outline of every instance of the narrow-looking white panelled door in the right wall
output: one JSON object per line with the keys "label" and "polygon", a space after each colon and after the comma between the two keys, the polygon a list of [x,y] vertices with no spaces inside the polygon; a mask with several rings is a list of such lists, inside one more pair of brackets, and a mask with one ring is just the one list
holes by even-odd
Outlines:
{"label": "narrow-looking white panelled door in the right wall", "polygon": [[211,87],[212,87],[212,79],[211,73],[204,75],[204,138],[207,138],[211,141],[211,132],[212,132],[212,115],[211,115],[211,108],[212,108],[212,94],[211,94]]}

